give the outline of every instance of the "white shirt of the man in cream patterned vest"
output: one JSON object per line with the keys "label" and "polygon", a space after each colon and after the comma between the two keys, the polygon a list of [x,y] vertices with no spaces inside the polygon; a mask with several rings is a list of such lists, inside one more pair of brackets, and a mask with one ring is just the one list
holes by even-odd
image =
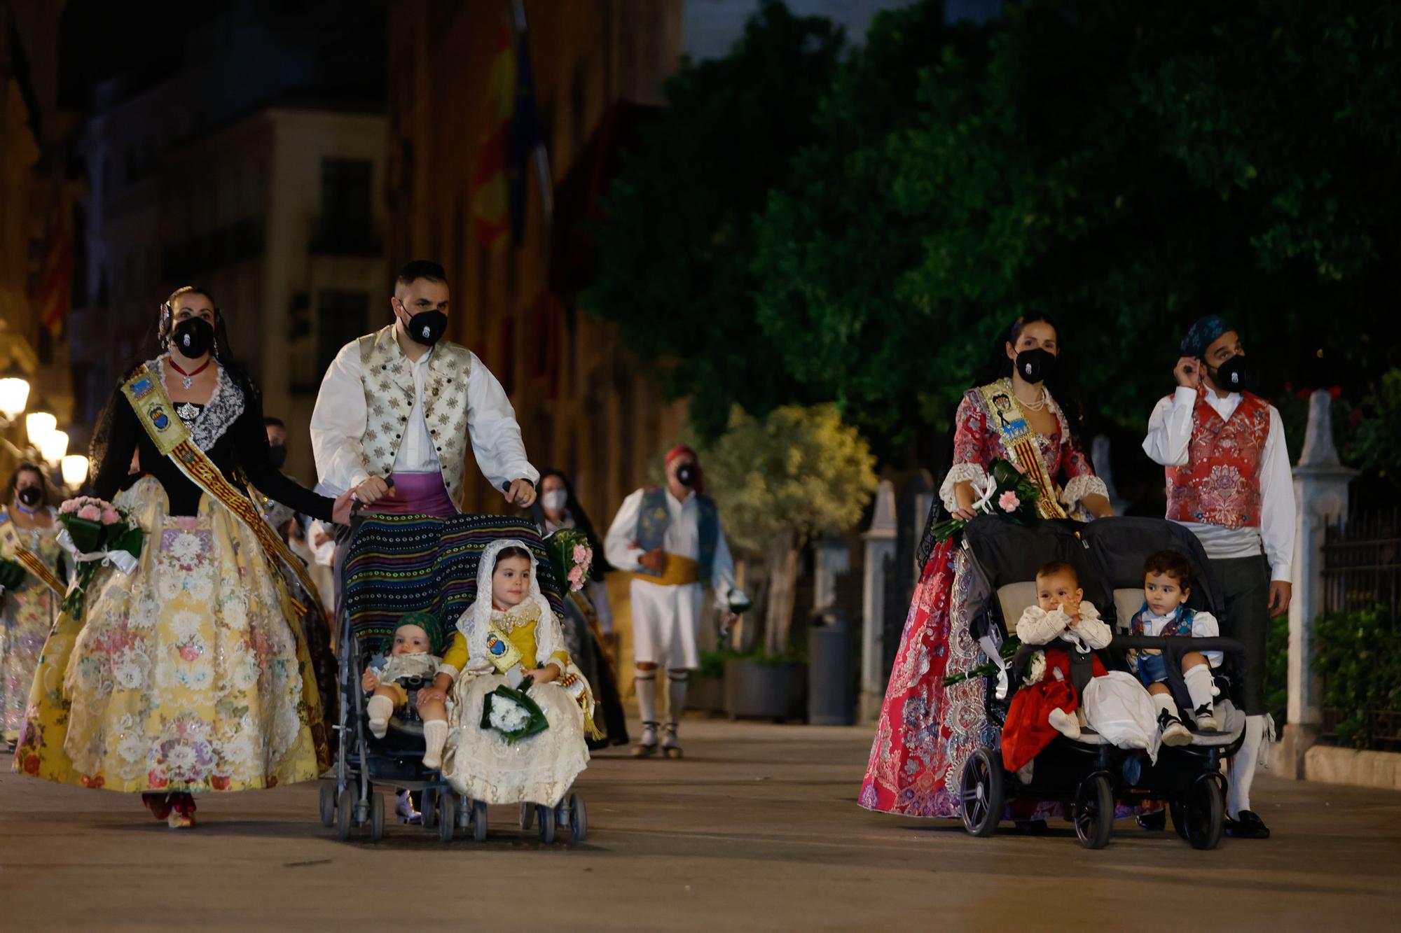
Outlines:
{"label": "white shirt of the man in cream patterned vest", "polygon": [[[441,469],[427,419],[423,417],[423,384],[429,373],[433,350],[409,361],[413,374],[413,408],[403,429],[403,438],[394,455],[396,474],[436,474]],[[472,452],[493,488],[517,479],[535,482],[539,471],[525,458],[516,409],[506,389],[492,371],[472,354],[472,370],[467,380],[467,431],[472,438]],[[326,495],[340,495],[370,478],[364,469],[360,441],[366,430],[364,370],[360,366],[360,345],[352,340],[340,347],[321,381],[317,406],[311,413],[311,450],[317,458],[318,489]]]}

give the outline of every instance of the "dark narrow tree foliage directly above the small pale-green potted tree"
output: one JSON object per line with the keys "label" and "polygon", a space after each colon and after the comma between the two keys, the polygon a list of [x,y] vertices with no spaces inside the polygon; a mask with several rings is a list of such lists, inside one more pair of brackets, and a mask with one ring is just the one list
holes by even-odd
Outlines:
{"label": "dark narrow tree foliage directly above the small pale-green potted tree", "polygon": [[754,217],[815,139],[813,113],[843,36],[765,1],[726,57],[682,63],[665,115],[642,132],[595,231],[600,276],[584,307],[621,325],[672,396],[719,434],[736,402],[764,412],[810,392],[754,326]]}

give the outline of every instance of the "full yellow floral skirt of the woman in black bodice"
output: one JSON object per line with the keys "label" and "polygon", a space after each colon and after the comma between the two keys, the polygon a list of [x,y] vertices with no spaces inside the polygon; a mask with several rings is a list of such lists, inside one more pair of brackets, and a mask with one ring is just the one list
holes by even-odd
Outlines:
{"label": "full yellow floral skirt of the woman in black bodice", "polygon": [[329,766],[298,616],[254,534],[206,496],[167,513],[151,478],[116,499],[149,530],[132,576],[101,572],[60,615],[34,678],[15,770],[84,787],[209,792]]}

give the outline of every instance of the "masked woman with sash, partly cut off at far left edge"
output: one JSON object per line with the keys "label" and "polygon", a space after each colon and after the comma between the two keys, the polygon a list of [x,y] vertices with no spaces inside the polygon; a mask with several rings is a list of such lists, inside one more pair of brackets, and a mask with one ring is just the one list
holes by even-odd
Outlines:
{"label": "masked woman with sash, partly cut off at far left edge", "polygon": [[[28,552],[31,560],[38,559],[50,574],[67,576],[64,551],[57,541],[59,523],[53,516],[43,469],[36,464],[20,464],[0,504],[0,558],[20,562],[22,552]],[[34,668],[57,607],[59,594],[34,570],[25,570],[20,586],[0,593],[0,738],[6,742],[13,744],[20,737]]]}

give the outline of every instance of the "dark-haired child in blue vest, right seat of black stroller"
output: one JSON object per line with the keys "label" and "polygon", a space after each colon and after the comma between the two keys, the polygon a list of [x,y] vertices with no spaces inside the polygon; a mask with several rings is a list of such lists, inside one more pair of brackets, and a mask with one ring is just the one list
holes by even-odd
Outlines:
{"label": "dark-haired child in blue vest, right seat of black stroller", "polygon": [[[1131,635],[1192,636],[1215,639],[1220,635],[1216,616],[1187,608],[1192,593],[1192,565],[1177,551],[1159,551],[1143,563],[1143,608],[1129,622]],[[1167,657],[1154,649],[1128,653],[1129,667],[1143,681],[1163,730],[1164,745],[1187,745],[1192,734],[1178,716],[1167,685]],[[1198,731],[1217,730],[1212,668],[1220,667],[1220,651],[1185,651],[1181,660],[1182,681],[1192,699],[1192,719]]]}

